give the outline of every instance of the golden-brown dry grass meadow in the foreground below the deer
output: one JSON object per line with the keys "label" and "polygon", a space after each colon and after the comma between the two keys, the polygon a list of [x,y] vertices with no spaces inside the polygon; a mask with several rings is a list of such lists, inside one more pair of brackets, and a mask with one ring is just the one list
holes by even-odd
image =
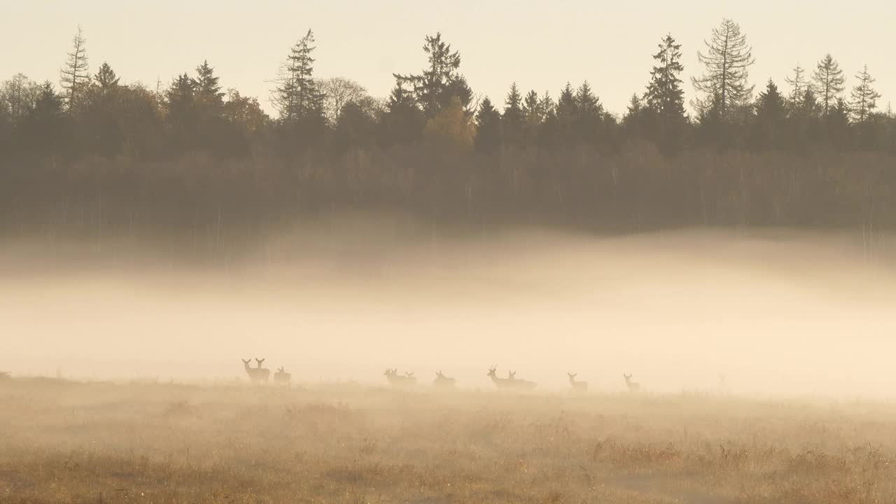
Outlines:
{"label": "golden-brown dry grass meadow in the foreground below the deer", "polygon": [[0,502],[896,501],[896,406],[0,382]]}

